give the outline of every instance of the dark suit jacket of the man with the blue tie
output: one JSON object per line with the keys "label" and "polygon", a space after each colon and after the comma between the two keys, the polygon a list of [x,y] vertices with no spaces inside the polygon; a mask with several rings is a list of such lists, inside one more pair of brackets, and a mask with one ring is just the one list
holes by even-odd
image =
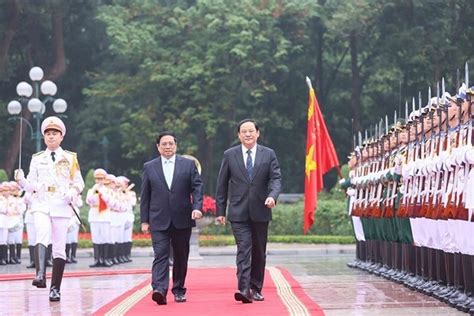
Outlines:
{"label": "dark suit jacket of the man with the blue tie", "polygon": [[228,199],[229,221],[270,221],[272,211],[265,199],[272,197],[276,202],[280,191],[280,166],[272,149],[257,144],[252,179],[245,168],[241,145],[224,152],[217,178],[217,216],[226,216]]}

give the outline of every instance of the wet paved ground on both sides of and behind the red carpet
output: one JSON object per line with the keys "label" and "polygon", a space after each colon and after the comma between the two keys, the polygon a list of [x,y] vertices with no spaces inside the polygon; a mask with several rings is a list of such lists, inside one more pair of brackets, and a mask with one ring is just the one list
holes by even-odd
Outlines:
{"label": "wet paved ground on both sides of and behind the red carpet", "polygon": [[[66,271],[92,270],[88,267],[92,263],[91,255],[91,249],[80,249],[79,262],[68,264]],[[132,255],[133,262],[109,270],[151,267],[151,248],[133,249]],[[234,266],[234,255],[235,247],[201,247],[192,251],[190,267]],[[347,268],[346,262],[353,257],[353,245],[269,244],[267,262],[289,270],[326,315],[462,314],[384,278]],[[24,253],[21,265],[0,266],[0,274],[33,273],[25,268],[27,261]],[[50,304],[48,290],[32,287],[31,280],[1,281],[0,314],[38,314],[39,311],[42,315],[90,314],[148,277],[136,274],[65,278],[59,304]]]}

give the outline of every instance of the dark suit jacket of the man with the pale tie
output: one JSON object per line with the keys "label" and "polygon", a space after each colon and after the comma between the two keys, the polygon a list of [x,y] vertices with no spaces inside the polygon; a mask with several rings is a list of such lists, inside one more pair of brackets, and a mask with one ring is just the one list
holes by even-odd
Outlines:
{"label": "dark suit jacket of the man with the pale tie", "polygon": [[193,210],[202,209],[203,185],[194,161],[176,155],[171,188],[166,184],[161,157],[143,165],[140,217],[151,231],[196,225]]}

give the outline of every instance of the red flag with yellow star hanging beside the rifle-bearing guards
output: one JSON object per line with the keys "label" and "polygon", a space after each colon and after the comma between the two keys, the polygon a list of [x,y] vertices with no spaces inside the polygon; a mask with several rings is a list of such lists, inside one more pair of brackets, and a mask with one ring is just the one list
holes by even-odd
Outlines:
{"label": "red flag with yellow star hanging beside the rifle-bearing guards", "polygon": [[339,160],[329,136],[313,88],[309,89],[308,129],[306,132],[306,166],[304,182],[303,231],[314,223],[318,207],[318,192],[323,188],[323,174],[339,166]]}

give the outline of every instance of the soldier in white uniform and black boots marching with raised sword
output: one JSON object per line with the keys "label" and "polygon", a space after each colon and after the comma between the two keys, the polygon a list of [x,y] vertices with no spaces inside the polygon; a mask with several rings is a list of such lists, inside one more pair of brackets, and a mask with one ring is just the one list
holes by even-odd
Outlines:
{"label": "soldier in white uniform and black boots marching with raised sword", "polygon": [[61,281],[66,264],[66,236],[69,220],[78,216],[72,202],[84,189],[76,153],[61,148],[66,126],[58,117],[46,118],[41,124],[46,150],[33,155],[28,176],[23,170],[15,172],[15,179],[32,193],[31,212],[36,230],[35,267],[33,285],[46,287],[46,249],[52,240],[53,273],[49,300],[61,299]]}

